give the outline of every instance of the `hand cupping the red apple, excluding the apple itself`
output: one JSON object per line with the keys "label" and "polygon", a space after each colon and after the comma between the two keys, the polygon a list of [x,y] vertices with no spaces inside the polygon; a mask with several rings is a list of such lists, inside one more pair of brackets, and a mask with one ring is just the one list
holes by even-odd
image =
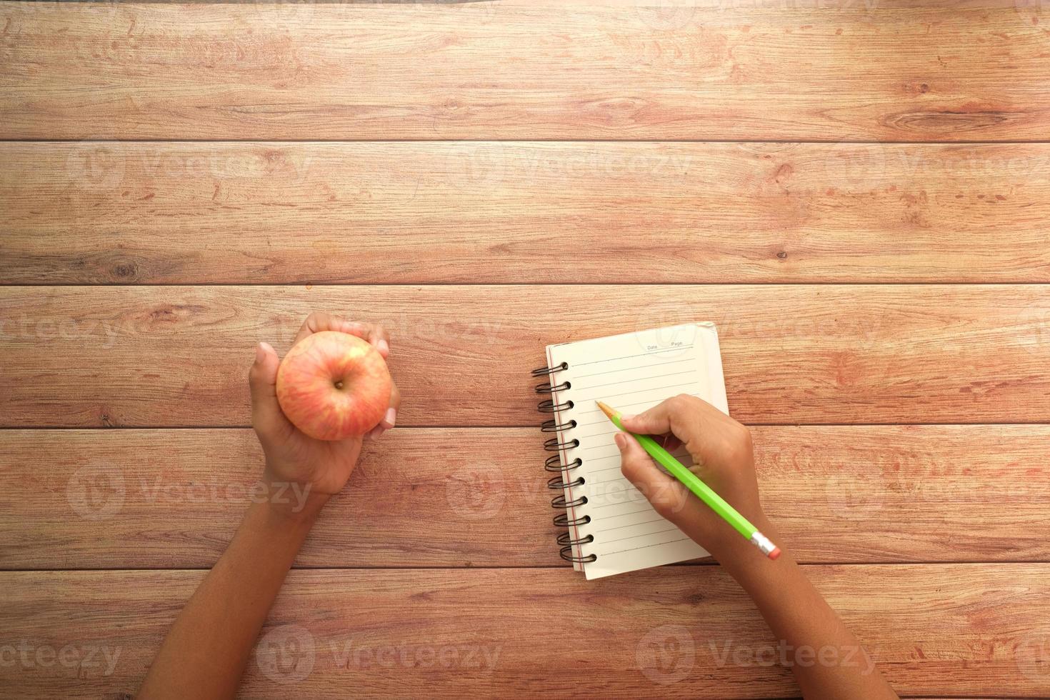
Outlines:
{"label": "hand cupping the red apple, excluding the apple itself", "polygon": [[[379,325],[346,321],[329,314],[313,313],[299,328],[295,342],[321,331],[339,331],[363,338],[379,351],[390,355],[390,336]],[[294,343],[293,343],[294,344]],[[255,348],[255,363],[248,373],[252,394],[252,427],[266,453],[262,481],[268,485],[289,488],[293,485],[309,489],[311,499],[327,501],[346,484],[357,465],[362,438],[339,441],[314,440],[292,425],[277,403],[277,367],[280,360],[268,343]],[[382,422],[368,437],[378,440],[384,430],[394,427],[401,395],[397,385],[391,391],[391,405]],[[292,497],[293,503],[295,497]]]}

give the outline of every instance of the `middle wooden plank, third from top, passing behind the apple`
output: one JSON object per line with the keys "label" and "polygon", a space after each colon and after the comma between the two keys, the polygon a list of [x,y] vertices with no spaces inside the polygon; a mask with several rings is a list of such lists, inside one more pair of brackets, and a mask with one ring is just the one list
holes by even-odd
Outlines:
{"label": "middle wooden plank, third from top, passing behind the apple", "polygon": [[307,285],[0,288],[0,425],[245,426],[312,310],[391,328],[401,425],[536,425],[547,343],[697,320],[746,423],[1050,422],[1041,284]]}

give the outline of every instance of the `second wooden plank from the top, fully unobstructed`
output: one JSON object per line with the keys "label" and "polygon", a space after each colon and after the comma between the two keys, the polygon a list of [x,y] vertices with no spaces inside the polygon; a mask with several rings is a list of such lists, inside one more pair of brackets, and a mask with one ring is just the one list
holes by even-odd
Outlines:
{"label": "second wooden plank from the top, fully unobstructed", "polygon": [[1050,281],[1047,144],[5,143],[0,161],[6,283]]}

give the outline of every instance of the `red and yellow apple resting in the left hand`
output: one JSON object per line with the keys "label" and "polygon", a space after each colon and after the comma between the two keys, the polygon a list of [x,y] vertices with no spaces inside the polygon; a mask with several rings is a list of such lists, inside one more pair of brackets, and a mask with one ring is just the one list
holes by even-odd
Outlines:
{"label": "red and yellow apple resting in the left hand", "polygon": [[295,343],[277,369],[277,401],[311,438],[363,436],[386,413],[391,373],[375,347],[357,336],[321,331]]}

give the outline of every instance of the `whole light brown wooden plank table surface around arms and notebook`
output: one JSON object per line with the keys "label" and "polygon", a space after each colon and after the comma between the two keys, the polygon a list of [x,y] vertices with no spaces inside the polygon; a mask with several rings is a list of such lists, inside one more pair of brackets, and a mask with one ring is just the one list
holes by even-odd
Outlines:
{"label": "whole light brown wooden plank table surface around arms and notebook", "polygon": [[717,566],[556,555],[528,370],[691,320],[901,695],[1050,695],[1046,2],[2,2],[0,140],[0,695],[134,694],[310,310],[405,400],[245,697],[797,695]]}

